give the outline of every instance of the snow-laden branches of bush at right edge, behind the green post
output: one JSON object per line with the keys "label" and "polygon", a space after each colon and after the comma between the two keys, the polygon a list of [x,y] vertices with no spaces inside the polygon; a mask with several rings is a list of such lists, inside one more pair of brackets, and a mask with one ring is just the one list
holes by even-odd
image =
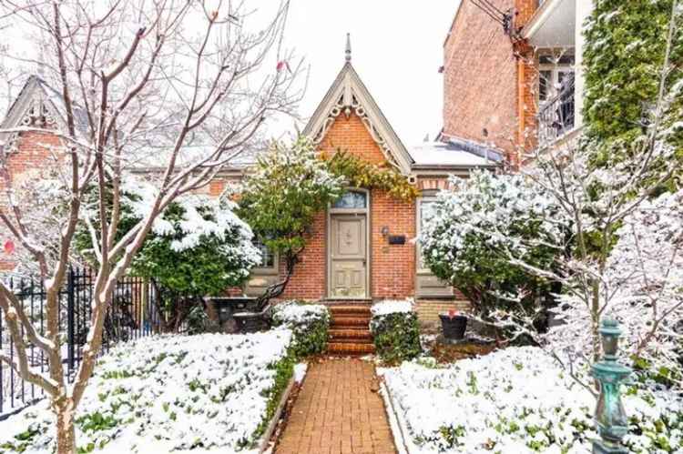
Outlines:
{"label": "snow-laden branches of bush at right edge, behind the green post", "polygon": [[[645,200],[624,218],[600,282],[600,310],[626,331],[629,357],[669,375],[680,372],[683,319],[683,191]],[[574,355],[590,355],[591,318],[575,295],[560,297],[566,325],[548,340]]]}

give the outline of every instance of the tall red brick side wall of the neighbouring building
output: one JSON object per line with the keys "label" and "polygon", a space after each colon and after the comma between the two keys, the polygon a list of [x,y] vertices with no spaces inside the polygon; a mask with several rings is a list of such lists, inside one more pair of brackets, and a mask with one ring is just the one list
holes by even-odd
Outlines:
{"label": "tall red brick side wall of the neighbouring building", "polygon": [[[529,20],[538,4],[492,2],[502,11],[515,8],[516,27]],[[533,126],[535,116],[528,89],[521,86],[535,79],[531,72],[520,73],[516,50],[502,25],[472,2],[461,3],[443,45],[444,134],[491,143],[515,159],[517,146],[527,145],[525,127]]]}

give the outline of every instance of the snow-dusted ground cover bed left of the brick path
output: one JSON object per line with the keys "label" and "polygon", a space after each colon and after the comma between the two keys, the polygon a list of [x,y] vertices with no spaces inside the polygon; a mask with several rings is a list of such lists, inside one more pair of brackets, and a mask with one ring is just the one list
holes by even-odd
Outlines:
{"label": "snow-dusted ground cover bed left of the brick path", "polygon": [[[268,422],[275,366],[290,342],[290,330],[276,329],[144,338],[114,348],[78,409],[77,446],[111,454],[250,452]],[[52,452],[47,405],[0,422],[0,452]]]}

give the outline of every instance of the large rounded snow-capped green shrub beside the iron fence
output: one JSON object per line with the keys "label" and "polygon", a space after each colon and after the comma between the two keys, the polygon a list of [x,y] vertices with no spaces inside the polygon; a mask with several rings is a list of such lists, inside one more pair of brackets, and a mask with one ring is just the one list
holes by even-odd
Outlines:
{"label": "large rounded snow-capped green shrub beside the iron fence", "polygon": [[[133,200],[131,216],[144,209]],[[235,215],[236,205],[198,195],[171,204],[133,260],[131,271],[158,284],[168,330],[185,323],[190,332],[204,331],[208,320],[199,309],[202,298],[240,286],[260,262],[250,227]]]}

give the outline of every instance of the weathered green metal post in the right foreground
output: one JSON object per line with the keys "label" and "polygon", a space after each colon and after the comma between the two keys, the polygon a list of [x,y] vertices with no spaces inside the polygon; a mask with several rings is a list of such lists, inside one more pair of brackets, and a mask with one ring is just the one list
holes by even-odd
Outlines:
{"label": "weathered green metal post in the right foreground", "polygon": [[600,383],[596,425],[600,439],[593,442],[594,454],[627,454],[621,440],[628,431],[628,419],[621,402],[619,387],[631,375],[631,369],[617,363],[621,329],[617,320],[607,318],[598,330],[602,337],[603,360],[593,365],[593,377]]}

